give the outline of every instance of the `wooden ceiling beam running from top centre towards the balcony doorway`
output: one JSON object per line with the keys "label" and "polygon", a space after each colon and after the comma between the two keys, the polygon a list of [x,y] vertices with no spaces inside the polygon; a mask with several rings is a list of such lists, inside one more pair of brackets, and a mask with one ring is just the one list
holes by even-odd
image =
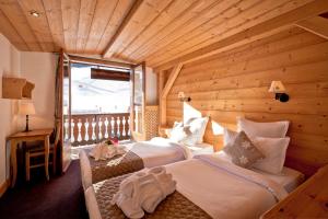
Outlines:
{"label": "wooden ceiling beam running from top centre towards the balcony doorway", "polygon": [[136,0],[133,5],[131,7],[130,11],[127,13],[126,18],[124,19],[124,21],[121,22],[121,24],[117,28],[116,33],[110,38],[110,41],[109,41],[108,45],[106,46],[105,50],[103,51],[103,57],[104,58],[110,58],[110,56],[112,56],[110,53],[109,53],[110,47],[114,45],[116,39],[119,37],[120,33],[125,30],[125,27],[127,26],[127,24],[129,23],[129,21],[133,16],[133,14],[138,11],[139,7],[142,4],[142,2],[143,2],[143,0]]}

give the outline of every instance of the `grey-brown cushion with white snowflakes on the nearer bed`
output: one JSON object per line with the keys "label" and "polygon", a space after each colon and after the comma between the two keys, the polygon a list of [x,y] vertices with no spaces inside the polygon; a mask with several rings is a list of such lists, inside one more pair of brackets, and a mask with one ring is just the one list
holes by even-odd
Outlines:
{"label": "grey-brown cushion with white snowflakes on the nearer bed", "polygon": [[231,157],[234,164],[242,168],[250,168],[256,161],[265,158],[244,131],[238,132],[236,138],[223,148],[223,151]]}

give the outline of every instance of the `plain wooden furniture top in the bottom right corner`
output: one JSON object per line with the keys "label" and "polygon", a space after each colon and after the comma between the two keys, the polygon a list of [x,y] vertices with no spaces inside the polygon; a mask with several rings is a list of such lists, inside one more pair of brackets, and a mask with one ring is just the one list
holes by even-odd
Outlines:
{"label": "plain wooden furniture top in the bottom right corner", "polygon": [[328,218],[328,165],[319,169],[261,218]]}

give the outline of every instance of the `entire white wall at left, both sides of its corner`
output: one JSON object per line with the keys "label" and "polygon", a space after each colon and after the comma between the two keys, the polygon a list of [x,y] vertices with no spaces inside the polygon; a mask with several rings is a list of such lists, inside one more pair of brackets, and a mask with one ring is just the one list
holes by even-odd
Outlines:
{"label": "entire white wall at left, both sides of its corner", "polygon": [[31,116],[30,127],[51,128],[55,120],[56,65],[55,55],[19,51],[0,34],[0,186],[9,177],[10,147],[5,138],[25,128],[25,116],[17,115],[19,103],[22,101],[2,99],[2,77],[25,78],[35,84],[32,101],[36,115]]}

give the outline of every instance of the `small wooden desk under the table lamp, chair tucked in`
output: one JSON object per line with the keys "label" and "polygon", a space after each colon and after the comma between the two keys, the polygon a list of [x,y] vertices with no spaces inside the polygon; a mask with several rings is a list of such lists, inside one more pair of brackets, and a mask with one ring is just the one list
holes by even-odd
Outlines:
{"label": "small wooden desk under the table lamp, chair tucked in", "polygon": [[23,141],[35,141],[43,140],[45,141],[45,170],[47,180],[49,180],[49,137],[52,132],[52,129],[35,129],[27,132],[16,132],[9,136],[7,139],[11,141],[10,143],[10,162],[11,162],[11,187],[14,187],[17,177],[17,158],[16,150],[17,143]]}

